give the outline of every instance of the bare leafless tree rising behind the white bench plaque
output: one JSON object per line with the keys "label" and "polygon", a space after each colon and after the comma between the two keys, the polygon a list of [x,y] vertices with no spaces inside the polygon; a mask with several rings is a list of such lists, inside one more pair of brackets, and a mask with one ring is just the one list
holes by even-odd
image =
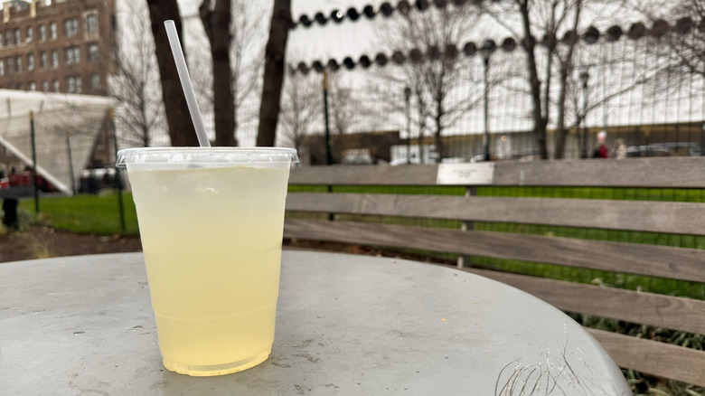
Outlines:
{"label": "bare leafless tree rising behind the white bench plaque", "polygon": [[[424,136],[430,124],[439,156],[444,152],[443,130],[454,125],[481,98],[452,95],[467,82],[465,64],[456,45],[466,41],[466,34],[477,19],[478,14],[470,5],[448,5],[423,13],[409,10],[391,21],[390,27],[383,28],[379,35],[382,47],[412,57],[400,68],[382,70],[380,77],[409,86],[416,99],[419,137]],[[418,59],[422,52],[426,60]],[[394,75],[395,71],[401,71],[402,76]],[[398,95],[396,90],[393,94]]]}

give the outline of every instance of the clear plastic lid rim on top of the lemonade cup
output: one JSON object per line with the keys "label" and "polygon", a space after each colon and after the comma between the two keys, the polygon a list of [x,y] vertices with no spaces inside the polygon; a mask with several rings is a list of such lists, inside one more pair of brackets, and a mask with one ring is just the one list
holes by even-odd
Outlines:
{"label": "clear plastic lid rim on top of the lemonade cup", "polygon": [[118,167],[127,164],[258,165],[296,164],[295,148],[287,147],[137,147],[118,151]]}

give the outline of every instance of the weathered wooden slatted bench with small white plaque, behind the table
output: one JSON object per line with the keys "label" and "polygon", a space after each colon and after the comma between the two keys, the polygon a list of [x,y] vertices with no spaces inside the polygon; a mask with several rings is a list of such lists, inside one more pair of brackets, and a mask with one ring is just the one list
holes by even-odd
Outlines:
{"label": "weathered wooden slatted bench with small white plaque, behind the table", "polygon": [[[295,193],[287,198],[284,236],[376,247],[428,250],[472,257],[549,263],[575,269],[597,269],[646,277],[705,282],[705,250],[617,242],[476,231],[383,220],[441,219],[465,222],[540,224],[582,229],[646,231],[705,236],[705,203],[580,198],[472,196],[483,186],[673,188],[701,194],[705,157],[628,160],[497,162],[475,165],[299,167],[290,185],[465,187],[465,196],[392,193]],[[464,170],[465,169],[465,170]],[[466,183],[486,176],[487,180]],[[454,180],[454,177],[456,180]],[[433,190],[437,187],[431,187]],[[324,188],[322,189],[324,190]],[[324,190],[325,191],[325,190]],[[461,190],[462,191],[462,190]],[[469,195],[469,196],[468,196]],[[302,219],[295,212],[373,215],[382,222]],[[690,238],[690,237],[688,237]],[[475,259],[473,259],[475,260]],[[532,264],[531,264],[532,265]],[[571,270],[572,270],[571,269]],[[652,325],[705,335],[705,301],[593,284],[538,278],[497,270],[465,268],[540,297],[559,309],[590,316]],[[616,363],[681,382],[705,386],[705,352],[674,344],[590,329]]]}

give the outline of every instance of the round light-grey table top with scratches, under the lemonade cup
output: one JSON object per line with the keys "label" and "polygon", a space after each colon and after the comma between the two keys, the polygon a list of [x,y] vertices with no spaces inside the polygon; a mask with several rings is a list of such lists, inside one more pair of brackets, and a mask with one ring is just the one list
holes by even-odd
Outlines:
{"label": "round light-grey table top with scratches, under the lemonade cup", "polygon": [[403,259],[285,250],[272,354],[164,370],[141,253],[0,264],[0,388],[23,395],[631,395],[569,316]]}

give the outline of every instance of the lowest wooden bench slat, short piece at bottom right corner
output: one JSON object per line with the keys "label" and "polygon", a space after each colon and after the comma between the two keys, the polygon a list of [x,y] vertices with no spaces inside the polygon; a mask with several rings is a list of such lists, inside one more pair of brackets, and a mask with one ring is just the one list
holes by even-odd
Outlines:
{"label": "lowest wooden bench slat, short piece at bottom right corner", "polygon": [[682,346],[587,329],[618,366],[705,386],[705,353]]}

